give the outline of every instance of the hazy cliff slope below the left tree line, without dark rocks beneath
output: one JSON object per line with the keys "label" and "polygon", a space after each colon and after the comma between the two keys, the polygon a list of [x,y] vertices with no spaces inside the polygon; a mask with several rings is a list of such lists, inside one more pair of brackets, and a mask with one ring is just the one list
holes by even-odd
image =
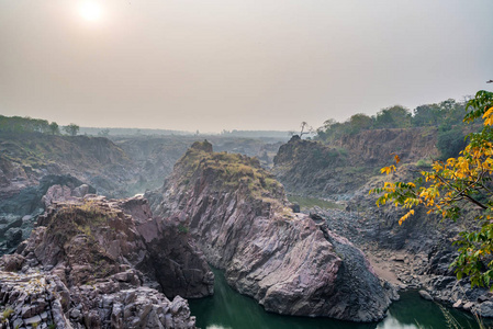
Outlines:
{"label": "hazy cliff slope below the left tree line, without dark rocks beneath", "polygon": [[16,134],[0,136],[0,196],[9,197],[43,177],[71,175],[108,196],[125,195],[134,162],[102,137]]}

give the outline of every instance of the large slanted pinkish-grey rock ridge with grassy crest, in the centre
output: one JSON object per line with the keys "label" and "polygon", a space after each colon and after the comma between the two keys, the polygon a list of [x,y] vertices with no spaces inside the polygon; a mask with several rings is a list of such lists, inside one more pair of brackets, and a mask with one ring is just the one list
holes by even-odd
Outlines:
{"label": "large slanted pinkish-grey rock ridge with grassy crest, in the centre", "polygon": [[391,303],[392,288],[361,251],[293,213],[282,185],[256,159],[195,143],[148,196],[156,214],[190,230],[234,288],[269,311],[374,321]]}

